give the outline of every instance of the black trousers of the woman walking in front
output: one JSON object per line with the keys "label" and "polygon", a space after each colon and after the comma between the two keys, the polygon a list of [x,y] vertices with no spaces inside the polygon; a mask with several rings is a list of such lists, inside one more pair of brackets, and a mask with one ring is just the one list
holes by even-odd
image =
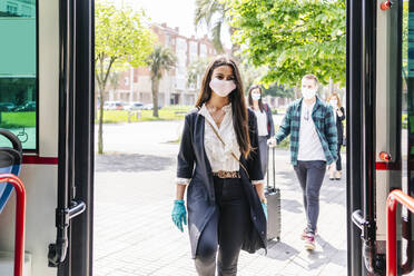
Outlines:
{"label": "black trousers of the woman walking in front", "polygon": [[249,206],[238,178],[214,178],[218,215],[208,221],[198,241],[196,269],[200,276],[237,275],[238,255],[250,227]]}

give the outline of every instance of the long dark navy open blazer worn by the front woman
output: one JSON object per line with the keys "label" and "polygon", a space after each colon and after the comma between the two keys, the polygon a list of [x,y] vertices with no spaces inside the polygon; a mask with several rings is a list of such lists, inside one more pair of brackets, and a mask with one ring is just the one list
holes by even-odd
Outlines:
{"label": "long dark navy open blazer worn by the front woman", "polygon": [[[257,122],[253,111],[248,111],[249,138],[253,148],[258,148]],[[198,239],[206,224],[218,216],[215,203],[213,171],[204,147],[205,118],[193,110],[185,118],[181,144],[178,154],[177,177],[191,178],[187,188],[188,233],[190,236],[191,256],[196,257]],[[259,151],[255,150],[247,160],[241,156],[241,184],[250,205],[250,230],[246,234],[243,249],[255,253],[266,248],[266,217],[262,208],[256,188],[250,180],[263,179]]]}

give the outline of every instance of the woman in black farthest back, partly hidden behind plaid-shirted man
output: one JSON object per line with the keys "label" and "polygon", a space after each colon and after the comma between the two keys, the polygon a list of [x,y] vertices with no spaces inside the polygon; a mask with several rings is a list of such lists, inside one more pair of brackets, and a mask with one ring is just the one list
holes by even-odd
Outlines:
{"label": "woman in black farthest back, partly hidden behind plaid-shirted man", "polygon": [[337,149],[338,159],[336,160],[336,168],[329,171],[329,179],[341,180],[341,177],[342,177],[341,146],[344,144],[343,120],[345,120],[345,109],[341,106],[339,96],[337,93],[332,93],[327,98],[327,102],[334,109],[334,112],[335,112],[334,118],[335,118],[336,130],[337,130],[337,136],[338,136],[338,149]]}

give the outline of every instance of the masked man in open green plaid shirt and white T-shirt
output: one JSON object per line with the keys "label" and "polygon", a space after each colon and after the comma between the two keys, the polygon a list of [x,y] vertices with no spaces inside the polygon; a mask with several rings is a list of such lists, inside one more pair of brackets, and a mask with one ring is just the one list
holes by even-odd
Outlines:
{"label": "masked man in open green plaid shirt and white T-shirt", "polygon": [[269,140],[274,146],[290,135],[290,160],[304,193],[307,219],[302,239],[308,250],[315,249],[319,190],[326,165],[332,169],[337,159],[334,111],[316,97],[317,87],[314,75],[306,75],[302,79],[303,98],[289,105],[278,132]]}

